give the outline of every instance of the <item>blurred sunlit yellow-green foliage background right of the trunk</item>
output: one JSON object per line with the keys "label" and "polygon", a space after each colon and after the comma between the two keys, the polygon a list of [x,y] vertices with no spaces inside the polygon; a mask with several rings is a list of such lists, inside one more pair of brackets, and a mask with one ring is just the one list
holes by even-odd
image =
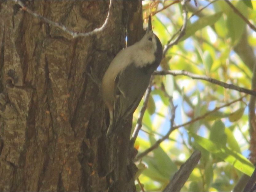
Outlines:
{"label": "blurred sunlit yellow-green foliage background right of the trunk", "polygon": [[[230,2],[255,26],[255,1]],[[158,70],[186,70],[252,89],[256,31],[225,1],[190,1],[186,6],[186,34],[167,51]],[[167,45],[183,25],[180,1],[144,1],[145,21],[149,14],[153,15],[154,32],[162,45]],[[177,106],[175,125],[242,98],[176,129],[159,148],[138,160],[142,174],[136,181],[141,183],[137,184],[137,190],[163,190],[194,150],[200,150],[202,157],[182,191],[231,191],[243,174],[252,174],[254,166],[246,161],[250,157],[255,163],[253,142],[250,142],[254,137],[254,124],[249,126],[248,120],[252,96],[186,76],[155,76],[142,128],[135,142],[139,154],[170,129],[171,104],[167,94]],[[134,126],[143,104],[142,100],[134,113]]]}

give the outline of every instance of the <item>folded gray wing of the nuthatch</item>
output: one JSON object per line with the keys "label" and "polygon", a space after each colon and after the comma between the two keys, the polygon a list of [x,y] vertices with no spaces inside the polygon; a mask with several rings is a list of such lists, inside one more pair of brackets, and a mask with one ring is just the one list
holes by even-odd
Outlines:
{"label": "folded gray wing of the nuthatch", "polygon": [[136,110],[148,87],[150,77],[151,74],[144,68],[137,68],[134,64],[128,65],[116,77],[113,130]]}

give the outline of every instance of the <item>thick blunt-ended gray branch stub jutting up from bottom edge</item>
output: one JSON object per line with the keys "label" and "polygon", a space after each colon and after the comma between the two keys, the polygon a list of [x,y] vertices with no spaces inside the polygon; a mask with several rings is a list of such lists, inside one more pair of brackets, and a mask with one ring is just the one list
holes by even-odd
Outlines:
{"label": "thick blunt-ended gray branch stub jutting up from bottom edge", "polygon": [[181,165],[179,171],[173,175],[170,183],[165,187],[163,191],[180,191],[183,185],[186,183],[189,175],[194,170],[195,166],[201,158],[200,151],[194,151],[187,161]]}

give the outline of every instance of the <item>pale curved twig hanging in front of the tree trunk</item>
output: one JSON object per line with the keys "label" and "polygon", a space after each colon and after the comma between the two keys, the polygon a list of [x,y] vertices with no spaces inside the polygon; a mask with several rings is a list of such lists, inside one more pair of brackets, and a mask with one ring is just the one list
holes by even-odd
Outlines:
{"label": "pale curved twig hanging in front of the tree trunk", "polygon": [[77,38],[77,37],[87,37],[87,36],[90,36],[90,35],[95,35],[96,33],[98,32],[101,32],[104,30],[104,28],[106,27],[107,23],[108,23],[108,20],[109,20],[109,15],[110,15],[110,8],[112,6],[112,1],[110,1],[109,3],[109,9],[108,9],[108,15],[105,19],[105,22],[104,24],[100,27],[100,28],[95,28],[93,31],[89,31],[89,32],[86,32],[86,33],[80,33],[80,32],[74,32],[74,31],[70,31],[68,30],[64,25],[62,24],[59,24],[59,23],[56,23],[52,20],[49,20],[37,13],[34,13],[32,10],[30,10],[29,8],[27,8],[22,1],[19,1],[19,0],[16,0],[16,2],[22,7],[22,10],[26,11],[27,13],[29,13],[30,15],[40,19],[40,20],[43,20],[44,22],[48,23],[48,24],[51,24],[57,28],[60,28],[61,30],[65,31],[67,34],[71,35],[73,38]]}

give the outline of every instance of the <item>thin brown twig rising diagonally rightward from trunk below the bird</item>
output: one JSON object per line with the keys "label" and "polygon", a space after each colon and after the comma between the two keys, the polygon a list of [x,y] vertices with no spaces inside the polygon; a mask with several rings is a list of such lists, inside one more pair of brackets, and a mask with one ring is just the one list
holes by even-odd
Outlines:
{"label": "thin brown twig rising diagonally rightward from trunk below the bird", "polygon": [[194,123],[195,121],[198,121],[198,120],[201,120],[201,119],[204,119],[205,117],[207,117],[208,115],[210,115],[211,113],[215,113],[216,111],[218,111],[219,109],[223,108],[223,107],[226,107],[226,106],[229,106],[235,102],[238,102],[238,101],[242,101],[242,99],[245,97],[246,95],[232,101],[232,102],[229,102],[225,105],[222,105],[220,107],[216,107],[215,109],[213,109],[212,111],[209,111],[205,114],[203,114],[202,116],[199,116],[199,117],[196,117],[195,119],[192,119],[190,121],[188,121],[187,123],[184,123],[184,124],[181,124],[181,125],[176,125],[174,127],[172,127],[172,129],[170,131],[168,131],[168,133],[166,135],[164,135],[162,138],[160,138],[159,140],[157,140],[151,147],[149,147],[147,150],[145,150],[144,152],[138,154],[135,158],[134,161],[138,161],[140,160],[142,157],[146,156],[149,152],[151,152],[152,150],[156,149],[160,144],[161,142],[163,142],[166,138],[169,138],[169,135],[171,134],[172,131],[178,129],[179,127],[184,127],[188,124],[191,124],[191,123]]}

